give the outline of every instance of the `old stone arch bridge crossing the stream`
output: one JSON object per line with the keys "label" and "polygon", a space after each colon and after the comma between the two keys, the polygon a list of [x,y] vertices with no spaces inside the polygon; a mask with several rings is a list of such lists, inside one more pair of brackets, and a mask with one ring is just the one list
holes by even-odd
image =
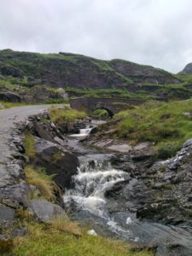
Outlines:
{"label": "old stone arch bridge crossing the stream", "polygon": [[114,113],[121,110],[131,108],[134,105],[143,104],[143,100],[125,99],[125,98],[98,98],[98,97],[84,97],[70,99],[71,108],[77,110],[84,110],[86,113],[91,113],[96,109],[105,109],[108,111],[110,117]]}

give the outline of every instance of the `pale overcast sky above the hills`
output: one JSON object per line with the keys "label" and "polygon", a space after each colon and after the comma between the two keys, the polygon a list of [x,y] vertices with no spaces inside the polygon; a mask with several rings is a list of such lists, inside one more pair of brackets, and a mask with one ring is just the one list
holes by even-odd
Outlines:
{"label": "pale overcast sky above the hills", "polygon": [[192,62],[191,0],[0,0],[0,49],[121,58],[177,73]]}

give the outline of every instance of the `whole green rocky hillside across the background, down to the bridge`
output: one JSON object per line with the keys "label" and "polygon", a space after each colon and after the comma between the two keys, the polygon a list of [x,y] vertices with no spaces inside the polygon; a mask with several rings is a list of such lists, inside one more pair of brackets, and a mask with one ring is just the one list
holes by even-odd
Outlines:
{"label": "whole green rocky hillside across the background, down to the bridge", "polygon": [[14,92],[25,102],[59,103],[63,100],[58,88],[69,96],[187,99],[192,96],[192,77],[124,60],[0,51],[0,92]]}

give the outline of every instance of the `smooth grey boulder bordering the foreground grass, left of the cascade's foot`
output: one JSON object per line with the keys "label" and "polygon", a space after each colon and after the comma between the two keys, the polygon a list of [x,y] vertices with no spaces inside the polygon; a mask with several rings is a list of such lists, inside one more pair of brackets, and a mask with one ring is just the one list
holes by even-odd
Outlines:
{"label": "smooth grey boulder bordering the foreground grass, left of the cascade's foot", "polygon": [[67,218],[66,212],[61,207],[46,200],[29,201],[28,211],[32,212],[42,222],[49,222],[50,219],[59,215]]}

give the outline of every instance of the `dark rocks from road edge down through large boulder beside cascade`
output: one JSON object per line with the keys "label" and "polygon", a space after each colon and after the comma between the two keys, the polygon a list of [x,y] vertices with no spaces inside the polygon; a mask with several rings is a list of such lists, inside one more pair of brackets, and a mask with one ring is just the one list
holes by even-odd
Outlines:
{"label": "dark rocks from road edge down through large boulder beside cascade", "polygon": [[72,185],[71,177],[77,173],[79,160],[64,146],[64,137],[49,119],[49,114],[44,112],[30,116],[26,131],[35,136],[36,157],[33,164],[55,175],[55,183],[62,190],[69,188]]}

